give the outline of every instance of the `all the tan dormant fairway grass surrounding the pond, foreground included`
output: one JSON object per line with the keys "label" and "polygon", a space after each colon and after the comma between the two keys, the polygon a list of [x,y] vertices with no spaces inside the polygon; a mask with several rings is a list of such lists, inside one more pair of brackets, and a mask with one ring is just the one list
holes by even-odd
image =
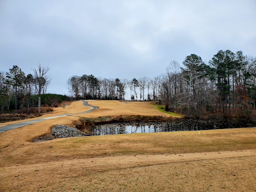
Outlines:
{"label": "all the tan dormant fairway grass surrounding the pond, foreground included", "polygon": [[[99,109],[0,133],[0,191],[256,191],[256,128],[28,141],[81,115],[168,115],[150,103],[88,103]],[[74,101],[45,115],[76,106],[90,108]]]}

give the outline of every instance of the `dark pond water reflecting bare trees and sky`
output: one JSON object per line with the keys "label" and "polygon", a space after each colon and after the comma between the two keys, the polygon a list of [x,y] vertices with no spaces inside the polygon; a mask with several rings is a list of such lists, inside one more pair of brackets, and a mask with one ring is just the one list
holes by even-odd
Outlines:
{"label": "dark pond water reflecting bare trees and sky", "polygon": [[184,130],[207,130],[219,128],[234,128],[236,122],[218,122],[214,120],[186,119],[176,122],[150,122],[150,123],[111,123],[102,124],[92,128],[92,135],[124,134],[139,132],[168,132]]}

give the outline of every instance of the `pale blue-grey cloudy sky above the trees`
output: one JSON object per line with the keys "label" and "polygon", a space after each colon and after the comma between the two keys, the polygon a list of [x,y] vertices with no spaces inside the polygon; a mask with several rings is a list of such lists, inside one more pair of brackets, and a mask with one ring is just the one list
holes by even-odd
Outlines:
{"label": "pale blue-grey cloudy sky above the trees", "polygon": [[0,0],[0,71],[48,66],[47,91],[72,75],[154,77],[171,60],[218,50],[256,56],[255,0]]}

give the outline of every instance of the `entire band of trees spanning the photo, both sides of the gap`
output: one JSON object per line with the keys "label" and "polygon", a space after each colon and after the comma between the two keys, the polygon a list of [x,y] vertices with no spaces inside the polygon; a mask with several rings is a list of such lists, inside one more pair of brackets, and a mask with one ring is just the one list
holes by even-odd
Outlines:
{"label": "entire band of trees spanning the photo, both sides of the gap", "polygon": [[170,61],[165,73],[153,78],[127,80],[73,75],[67,79],[69,95],[47,93],[48,69],[39,65],[33,69],[34,74],[25,75],[14,65],[7,72],[0,72],[0,110],[40,104],[57,106],[62,100],[72,99],[127,98],[154,101],[164,104],[166,111],[194,116],[255,110],[256,57],[243,55],[242,51],[219,50],[207,63],[190,54],[182,65]]}

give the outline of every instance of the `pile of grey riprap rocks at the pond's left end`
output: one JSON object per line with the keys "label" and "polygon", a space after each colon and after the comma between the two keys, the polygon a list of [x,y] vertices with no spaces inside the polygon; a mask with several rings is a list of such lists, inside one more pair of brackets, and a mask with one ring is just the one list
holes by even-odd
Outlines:
{"label": "pile of grey riprap rocks at the pond's left end", "polygon": [[51,132],[56,137],[89,136],[89,134],[65,124],[57,124],[53,126]]}

